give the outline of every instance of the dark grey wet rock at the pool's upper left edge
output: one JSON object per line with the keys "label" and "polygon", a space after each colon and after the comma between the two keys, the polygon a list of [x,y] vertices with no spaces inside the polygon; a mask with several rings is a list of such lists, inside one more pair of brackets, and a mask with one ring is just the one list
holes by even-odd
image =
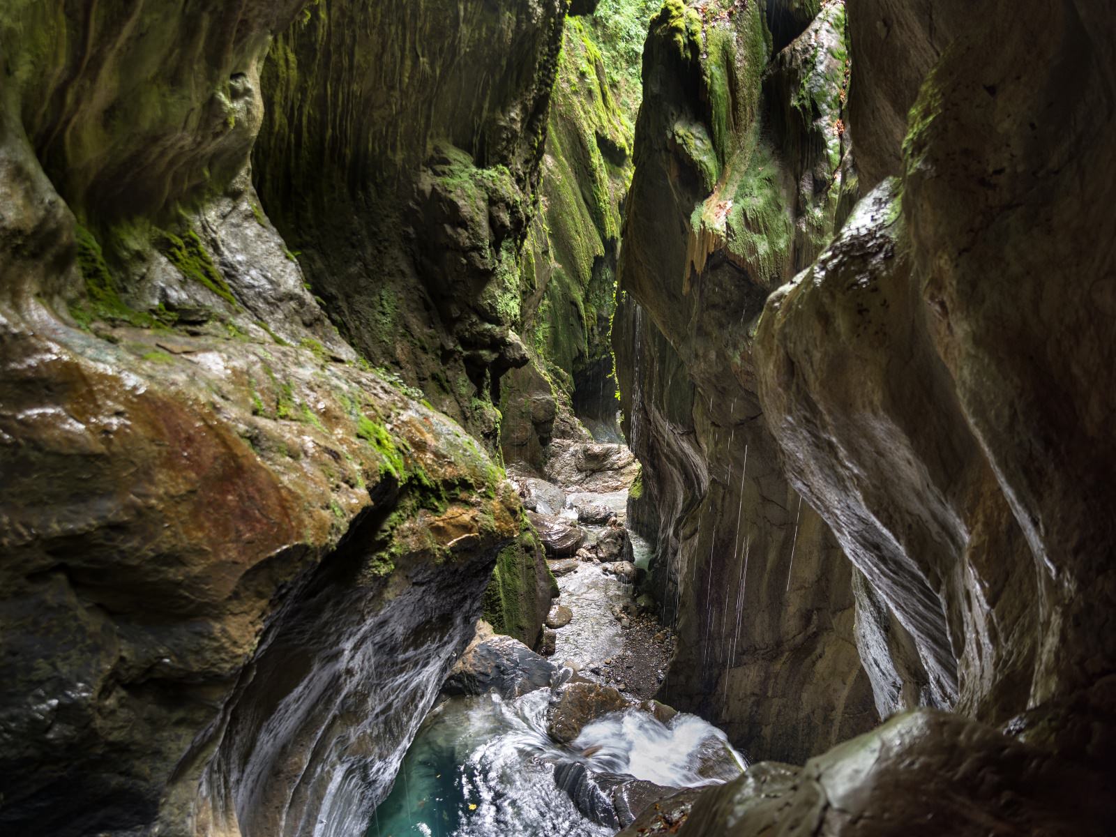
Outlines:
{"label": "dark grey wet rock at the pool's upper left edge", "polygon": [[518,639],[493,634],[488,623],[480,622],[477,636],[450,670],[442,692],[446,695],[494,692],[512,700],[549,686],[555,671],[550,662]]}

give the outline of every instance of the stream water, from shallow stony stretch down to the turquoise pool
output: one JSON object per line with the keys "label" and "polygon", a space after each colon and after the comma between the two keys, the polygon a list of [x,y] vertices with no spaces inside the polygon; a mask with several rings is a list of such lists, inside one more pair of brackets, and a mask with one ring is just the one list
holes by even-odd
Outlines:
{"label": "stream water, from shallow stony stretch down to the turquoise pool", "polygon": [[[570,494],[571,503],[579,500],[606,504],[623,519],[627,491]],[[595,540],[602,527],[585,529]],[[646,566],[648,545],[633,539],[633,551]],[[551,661],[588,668],[616,655],[624,637],[613,609],[631,602],[632,585],[593,562],[558,584],[558,600],[574,618],[557,632]],[[610,837],[619,822],[610,802],[599,802],[606,796],[602,780],[606,789],[631,780],[653,790],[689,788],[727,781],[747,767],[724,733],[696,715],[677,713],[664,723],[636,706],[591,721],[569,744],[557,743],[547,734],[552,694],[542,687],[513,700],[488,693],[441,701],[419,729],[366,837]]]}

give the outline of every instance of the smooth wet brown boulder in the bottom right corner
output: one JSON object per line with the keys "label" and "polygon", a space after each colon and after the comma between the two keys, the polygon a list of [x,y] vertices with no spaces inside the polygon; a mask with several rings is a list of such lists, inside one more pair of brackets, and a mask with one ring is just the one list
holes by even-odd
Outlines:
{"label": "smooth wet brown boulder in the bottom right corner", "polygon": [[[680,837],[1108,834],[1116,804],[1079,763],[975,721],[918,710],[807,761],[753,764],[702,791]],[[896,825],[902,824],[902,825]],[[637,820],[623,831],[639,830]]]}

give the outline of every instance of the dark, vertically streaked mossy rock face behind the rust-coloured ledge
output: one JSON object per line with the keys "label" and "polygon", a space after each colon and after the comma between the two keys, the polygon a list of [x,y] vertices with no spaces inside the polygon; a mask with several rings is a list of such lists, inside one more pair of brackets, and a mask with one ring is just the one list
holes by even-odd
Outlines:
{"label": "dark, vertically streaked mossy rock face behind the rust-coloured ledge", "polygon": [[253,176],[315,292],[492,450],[566,8],[323,0],[262,73]]}

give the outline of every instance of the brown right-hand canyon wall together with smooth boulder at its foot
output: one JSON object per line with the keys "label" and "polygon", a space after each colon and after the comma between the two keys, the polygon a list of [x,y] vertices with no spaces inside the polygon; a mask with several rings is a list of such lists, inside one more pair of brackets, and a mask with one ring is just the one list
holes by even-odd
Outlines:
{"label": "brown right-hand canyon wall together with smooth boulder at its foot", "polygon": [[756,388],[856,566],[881,712],[953,711],[631,834],[1109,834],[1116,16],[873,0],[848,29],[865,196],[768,296]]}

